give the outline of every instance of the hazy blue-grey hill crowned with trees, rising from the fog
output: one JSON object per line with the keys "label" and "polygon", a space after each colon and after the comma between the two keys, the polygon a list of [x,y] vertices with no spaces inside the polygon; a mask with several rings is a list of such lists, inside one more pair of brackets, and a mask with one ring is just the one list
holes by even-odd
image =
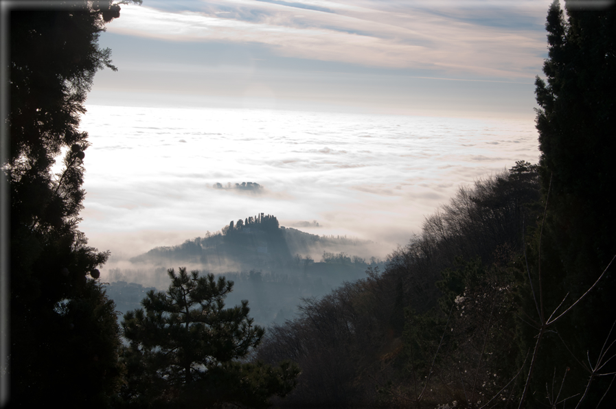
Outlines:
{"label": "hazy blue-grey hill crowned with trees, rising from the fog", "polygon": [[[190,265],[234,281],[235,287],[227,302],[237,304],[244,299],[250,300],[255,323],[269,325],[292,318],[302,297],[322,296],[343,281],[364,277],[368,266],[385,265],[376,257],[366,261],[346,251],[323,250],[320,261],[315,261],[310,253],[323,248],[364,253],[369,244],[371,242],[358,239],[285,229],[279,226],[275,216],[261,213],[231,222],[222,231],[208,232],[205,237],[187,240],[179,246],[154,248],[131,259],[135,268],[113,268],[104,277],[109,281],[107,293],[117,309],[124,313],[138,307],[141,301],[138,298],[141,293],[135,292],[133,287],[141,284],[166,288],[169,266]],[[301,253],[292,256],[291,250]],[[127,280],[134,281],[128,283],[132,287],[124,285],[123,281]]]}

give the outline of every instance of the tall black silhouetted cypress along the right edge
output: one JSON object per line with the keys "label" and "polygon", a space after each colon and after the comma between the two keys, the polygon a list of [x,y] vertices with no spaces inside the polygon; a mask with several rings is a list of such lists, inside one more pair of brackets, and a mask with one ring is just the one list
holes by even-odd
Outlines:
{"label": "tall black silhouetted cypress along the right edge", "polygon": [[[595,407],[611,379],[594,376],[587,362],[597,362],[604,342],[616,339],[608,335],[616,320],[614,267],[549,331],[546,325],[563,299],[558,314],[591,288],[616,255],[616,7],[590,1],[566,1],[565,7],[566,13],[556,1],[549,8],[547,82],[536,79],[546,217],[527,251],[533,288],[527,288],[524,310],[534,327],[520,323],[521,349],[532,351],[540,340],[527,399],[536,402],[555,372],[560,379],[566,373],[563,387]],[[615,370],[608,365],[602,372]],[[612,389],[604,399],[614,404]]]}

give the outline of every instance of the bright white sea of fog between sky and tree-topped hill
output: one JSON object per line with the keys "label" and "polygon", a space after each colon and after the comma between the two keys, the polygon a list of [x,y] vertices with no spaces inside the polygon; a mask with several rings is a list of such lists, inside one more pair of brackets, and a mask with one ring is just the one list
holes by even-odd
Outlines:
{"label": "bright white sea of fog between sky and tree-topped hill", "polygon": [[[308,233],[372,240],[373,254],[359,256],[385,257],[460,186],[539,154],[532,119],[87,110],[80,229],[91,246],[111,250],[103,274],[257,213]],[[247,182],[262,189],[234,188]]]}

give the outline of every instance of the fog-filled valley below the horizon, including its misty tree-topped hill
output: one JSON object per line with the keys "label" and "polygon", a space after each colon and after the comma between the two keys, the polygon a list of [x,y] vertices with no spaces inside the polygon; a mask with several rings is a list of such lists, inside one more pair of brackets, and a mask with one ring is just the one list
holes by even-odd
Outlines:
{"label": "fog-filled valley below the horizon, including its misty tree-topped hill", "polygon": [[[101,278],[119,311],[187,267],[233,280],[227,305],[248,299],[262,325],[383,270],[460,187],[538,158],[516,119],[93,105],[82,128],[80,227],[111,250]],[[250,224],[261,215],[277,227]]]}

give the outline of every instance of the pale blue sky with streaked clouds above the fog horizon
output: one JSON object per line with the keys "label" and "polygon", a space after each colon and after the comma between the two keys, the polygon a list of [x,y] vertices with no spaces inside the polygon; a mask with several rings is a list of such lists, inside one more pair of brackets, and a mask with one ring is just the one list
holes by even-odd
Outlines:
{"label": "pale blue sky with streaked clouds above the fog horizon", "polygon": [[89,103],[532,119],[549,3],[145,0]]}

